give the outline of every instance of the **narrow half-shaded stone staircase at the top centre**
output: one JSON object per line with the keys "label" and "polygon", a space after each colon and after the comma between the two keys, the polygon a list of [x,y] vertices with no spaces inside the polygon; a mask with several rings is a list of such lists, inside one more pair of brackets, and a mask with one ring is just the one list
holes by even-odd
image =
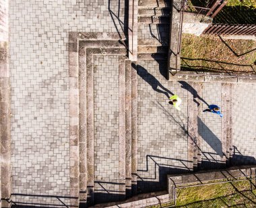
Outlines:
{"label": "narrow half-shaded stone staircase at the top centre", "polygon": [[168,58],[170,1],[140,0],[138,3],[138,60]]}

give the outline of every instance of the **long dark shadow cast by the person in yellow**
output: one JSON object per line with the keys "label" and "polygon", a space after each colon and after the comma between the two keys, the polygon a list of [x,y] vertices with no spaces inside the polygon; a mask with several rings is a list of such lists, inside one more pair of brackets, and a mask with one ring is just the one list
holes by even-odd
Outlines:
{"label": "long dark shadow cast by the person in yellow", "polygon": [[[148,72],[148,70],[146,70],[146,68],[143,68],[143,66],[140,65],[136,65],[134,63],[131,64],[131,66],[137,70],[137,74],[144,80],[146,81],[149,85],[151,85],[152,89],[154,89],[154,91],[158,92],[158,93],[162,93],[164,95],[166,95],[166,97],[168,97],[168,99],[170,98],[170,95],[174,95],[172,92],[170,92],[168,89],[166,89],[164,86],[162,86],[162,84],[156,79],[156,77],[154,77],[152,74],[150,74]],[[160,89],[158,89],[158,87]]]}

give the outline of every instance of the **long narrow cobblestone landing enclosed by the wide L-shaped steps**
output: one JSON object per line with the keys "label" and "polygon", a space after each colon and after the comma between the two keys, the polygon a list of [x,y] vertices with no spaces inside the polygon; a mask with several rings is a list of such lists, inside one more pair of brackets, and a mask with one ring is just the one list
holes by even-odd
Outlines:
{"label": "long narrow cobblestone landing enclosed by the wide L-shaped steps", "polygon": [[94,56],[94,132],[95,201],[99,201],[119,190],[119,56]]}

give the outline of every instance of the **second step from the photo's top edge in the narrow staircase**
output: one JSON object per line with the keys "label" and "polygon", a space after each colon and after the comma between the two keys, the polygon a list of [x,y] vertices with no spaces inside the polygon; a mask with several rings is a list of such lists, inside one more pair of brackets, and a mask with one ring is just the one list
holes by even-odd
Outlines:
{"label": "second step from the photo's top edge in the narrow staircase", "polygon": [[138,16],[143,16],[143,17],[168,16],[168,17],[170,17],[170,8],[169,7],[141,8],[141,9],[138,9]]}

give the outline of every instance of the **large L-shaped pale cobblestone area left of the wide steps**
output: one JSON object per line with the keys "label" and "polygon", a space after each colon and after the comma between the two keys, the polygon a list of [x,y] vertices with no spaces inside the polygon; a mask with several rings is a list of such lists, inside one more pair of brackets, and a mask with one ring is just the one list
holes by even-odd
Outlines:
{"label": "large L-shaped pale cobblestone area left of the wide steps", "polygon": [[124,1],[9,5],[12,192],[69,196],[69,32],[122,32]]}

